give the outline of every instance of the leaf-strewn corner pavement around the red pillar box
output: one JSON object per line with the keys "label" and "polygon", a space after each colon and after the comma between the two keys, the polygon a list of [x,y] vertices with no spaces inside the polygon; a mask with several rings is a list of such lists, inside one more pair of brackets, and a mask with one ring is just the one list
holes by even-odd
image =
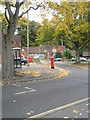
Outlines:
{"label": "leaf-strewn corner pavement around the red pillar box", "polygon": [[50,63],[48,64],[46,61],[41,62],[42,64],[29,63],[29,67],[27,65],[22,65],[22,68],[15,70],[15,76],[13,79],[11,81],[3,81],[3,84],[6,85],[20,82],[32,82],[67,75],[65,70],[56,66],[54,69],[51,69]]}

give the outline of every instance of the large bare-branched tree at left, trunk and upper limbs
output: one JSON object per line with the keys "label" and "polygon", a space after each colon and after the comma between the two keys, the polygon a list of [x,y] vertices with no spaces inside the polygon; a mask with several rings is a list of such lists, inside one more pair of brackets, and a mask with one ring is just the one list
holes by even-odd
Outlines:
{"label": "large bare-branched tree at left, trunk and upper limbs", "polygon": [[[7,21],[7,31],[6,33],[3,31],[3,43],[2,43],[2,71],[3,77],[5,80],[11,79],[13,76],[14,68],[13,68],[13,54],[12,54],[12,38],[15,33],[18,20],[26,14],[29,10],[34,9],[37,10],[40,7],[40,3],[38,0],[27,1],[19,0],[11,1],[6,0],[2,3],[5,6],[5,19]],[[22,13],[20,10],[23,8]]]}

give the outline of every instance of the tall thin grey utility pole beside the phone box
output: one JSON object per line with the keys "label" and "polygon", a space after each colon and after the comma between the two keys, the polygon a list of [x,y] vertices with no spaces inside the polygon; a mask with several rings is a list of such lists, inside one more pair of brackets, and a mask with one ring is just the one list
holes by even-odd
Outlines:
{"label": "tall thin grey utility pole beside the phone box", "polygon": [[27,61],[29,67],[29,12],[27,12]]}

